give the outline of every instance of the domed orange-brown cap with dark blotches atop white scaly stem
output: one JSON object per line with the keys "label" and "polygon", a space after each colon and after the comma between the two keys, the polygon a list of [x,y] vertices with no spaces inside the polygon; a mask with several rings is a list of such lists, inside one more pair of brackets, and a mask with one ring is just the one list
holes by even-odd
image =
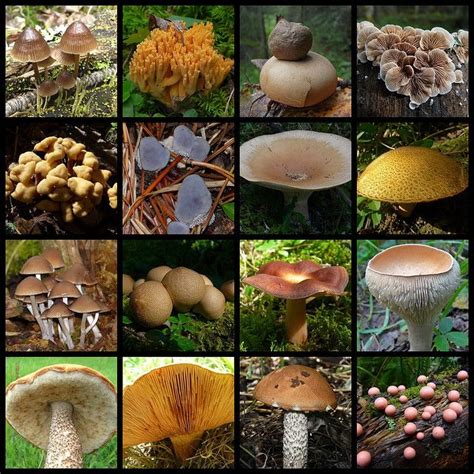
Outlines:
{"label": "domed orange-brown cap with dark blotches atop white scaly stem", "polygon": [[337,406],[327,380],[304,365],[288,365],[271,372],[257,384],[254,397],[266,405],[292,411],[325,411]]}

